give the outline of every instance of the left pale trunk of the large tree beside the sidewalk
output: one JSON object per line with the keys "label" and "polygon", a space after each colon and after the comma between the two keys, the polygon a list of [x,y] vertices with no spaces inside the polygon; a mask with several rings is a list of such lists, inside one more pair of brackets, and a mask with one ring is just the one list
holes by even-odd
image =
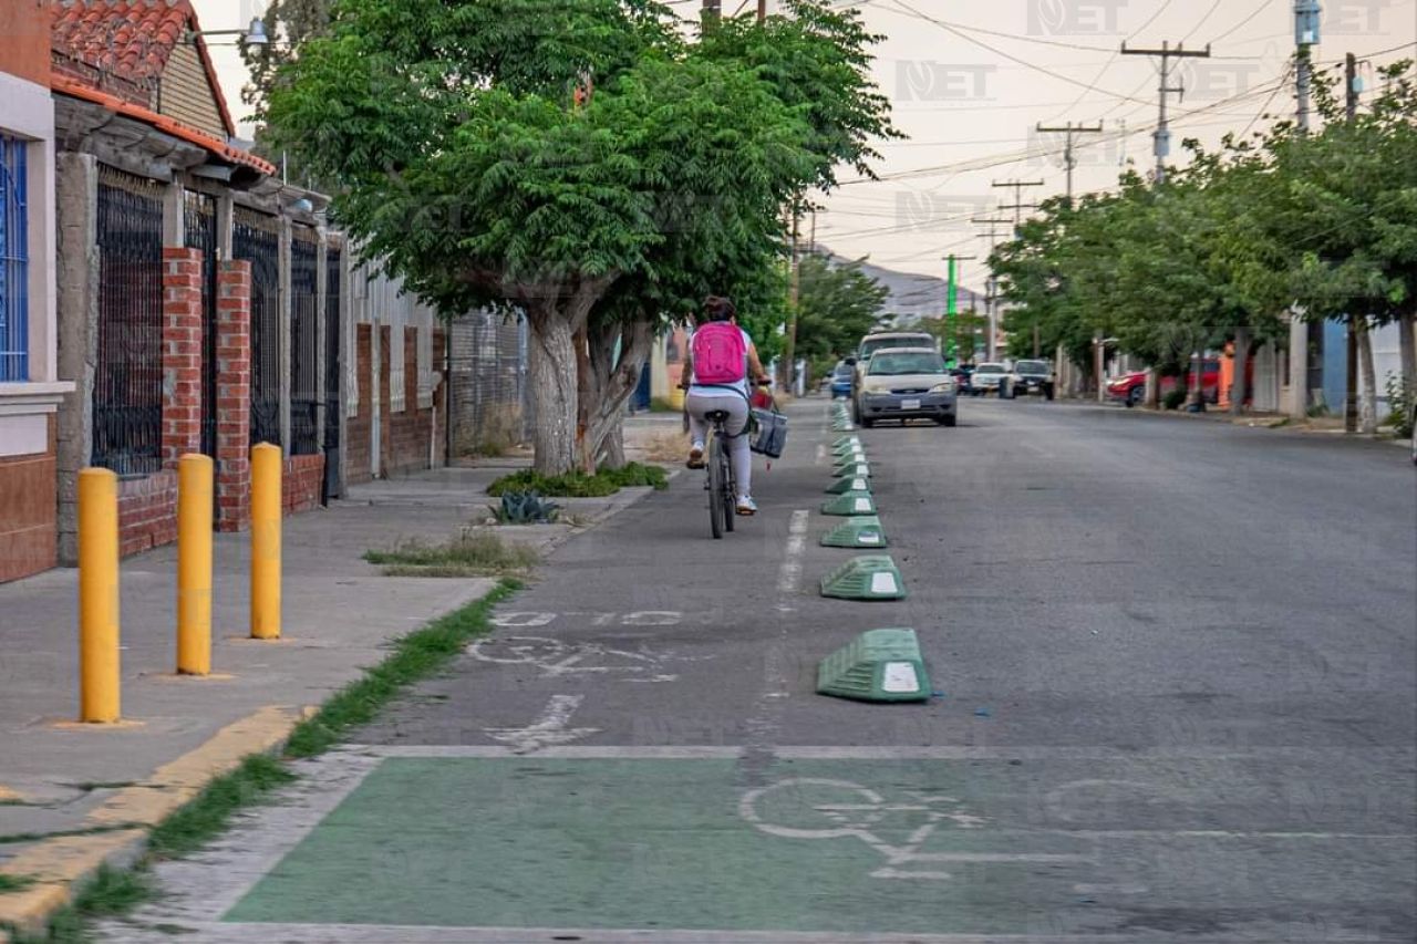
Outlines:
{"label": "left pale trunk of the large tree beside the sidewalk", "polygon": [[531,350],[527,373],[536,417],[531,444],[534,468],[543,475],[563,475],[575,462],[575,329],[554,303],[529,310]]}

